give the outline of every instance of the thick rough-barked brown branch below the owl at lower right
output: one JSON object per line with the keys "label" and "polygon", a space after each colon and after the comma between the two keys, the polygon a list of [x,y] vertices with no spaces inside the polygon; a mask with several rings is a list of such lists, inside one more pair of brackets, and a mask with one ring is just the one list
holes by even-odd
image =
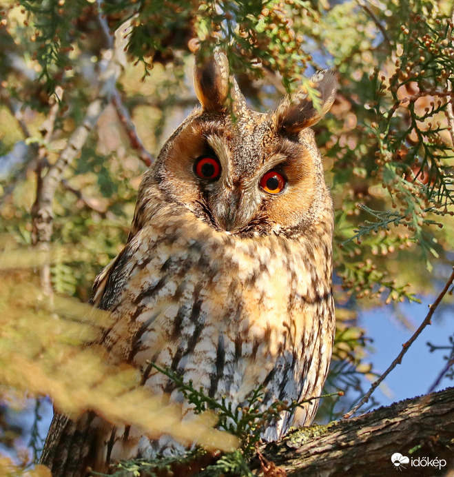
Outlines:
{"label": "thick rough-barked brown branch below the owl at lower right", "polygon": [[[391,456],[396,452],[410,462],[395,466]],[[288,477],[383,477],[400,470],[402,476],[454,476],[454,387],[298,430],[267,445],[262,454]],[[446,465],[416,466],[426,463],[423,457],[432,463],[446,460]]]}

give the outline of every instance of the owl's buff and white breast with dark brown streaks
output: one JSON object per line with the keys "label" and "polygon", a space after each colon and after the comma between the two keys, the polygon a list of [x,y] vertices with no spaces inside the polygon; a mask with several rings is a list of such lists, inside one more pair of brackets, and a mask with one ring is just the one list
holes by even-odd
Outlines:
{"label": "owl's buff and white breast with dark brown streaks", "polygon": [[103,345],[156,391],[173,387],[149,361],[235,403],[258,385],[264,405],[305,388],[317,395],[333,340],[331,222],[327,212],[313,240],[238,239],[184,207],[163,207],[114,265],[106,289],[116,293],[100,306],[115,324]]}

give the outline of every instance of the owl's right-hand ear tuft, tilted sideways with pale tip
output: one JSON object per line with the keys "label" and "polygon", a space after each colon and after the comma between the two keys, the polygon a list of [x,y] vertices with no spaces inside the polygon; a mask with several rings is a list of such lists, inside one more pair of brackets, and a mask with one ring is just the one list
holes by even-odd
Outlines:
{"label": "owl's right-hand ear tuft, tilted sideways with pale tip", "polygon": [[336,98],[338,81],[334,72],[322,70],[316,72],[309,81],[320,93],[321,109],[316,110],[305,86],[300,86],[291,97],[285,98],[278,106],[276,115],[279,125],[287,132],[295,134],[318,123],[329,111]]}

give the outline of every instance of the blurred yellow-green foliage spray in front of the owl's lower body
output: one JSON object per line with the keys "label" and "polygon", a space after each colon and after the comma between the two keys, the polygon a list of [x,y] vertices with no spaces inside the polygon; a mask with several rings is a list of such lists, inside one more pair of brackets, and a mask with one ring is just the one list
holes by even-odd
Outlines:
{"label": "blurred yellow-green foliage spray in front of the owl's lower body", "polygon": [[[37,263],[28,252],[17,257],[21,266]],[[181,443],[225,451],[238,446],[234,436],[213,429],[213,414],[182,420],[180,405],[138,385],[138,370],[112,363],[101,346],[86,347],[109,325],[109,313],[61,296],[50,301],[25,270],[0,273],[0,281],[0,394],[13,389],[49,395],[72,418],[91,409],[152,438],[168,434]],[[0,475],[7,474],[0,470]]]}

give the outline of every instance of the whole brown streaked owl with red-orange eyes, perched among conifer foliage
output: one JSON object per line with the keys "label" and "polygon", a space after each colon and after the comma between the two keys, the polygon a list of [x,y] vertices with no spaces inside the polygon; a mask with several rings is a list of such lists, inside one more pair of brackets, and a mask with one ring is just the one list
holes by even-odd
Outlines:
{"label": "whole brown streaked owl with red-orange eyes, perched among conifer foliage", "polygon": [[[326,110],[335,81],[321,80]],[[172,400],[182,397],[150,361],[236,405],[260,385],[264,408],[319,396],[334,335],[332,203],[307,129],[321,113],[302,94],[271,113],[249,110],[236,83],[229,97],[223,56],[199,67],[195,83],[203,108],[145,174],[128,243],[96,279],[92,302],[113,320],[99,343]],[[282,413],[263,438],[309,425],[316,409]],[[76,462],[74,429],[87,434]],[[105,471],[168,449],[178,445],[165,436],[58,416],[42,462],[54,476],[83,476],[87,465]]]}

